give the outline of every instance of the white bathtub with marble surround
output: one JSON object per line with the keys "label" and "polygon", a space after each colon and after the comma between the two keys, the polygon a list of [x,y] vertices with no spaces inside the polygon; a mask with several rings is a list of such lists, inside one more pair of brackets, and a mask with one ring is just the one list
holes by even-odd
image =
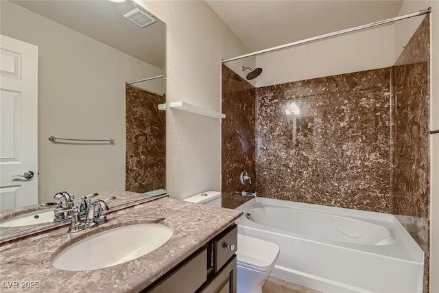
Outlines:
{"label": "white bathtub with marble surround", "polygon": [[423,250],[394,215],[270,198],[237,207],[238,233],[280,246],[272,276],[320,292],[423,292]]}

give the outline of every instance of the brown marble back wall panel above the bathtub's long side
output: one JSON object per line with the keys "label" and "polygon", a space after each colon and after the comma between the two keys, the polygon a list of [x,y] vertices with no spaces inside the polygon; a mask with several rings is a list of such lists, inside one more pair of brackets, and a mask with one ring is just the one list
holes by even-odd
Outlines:
{"label": "brown marble back wall panel above the bathtub's long side", "polygon": [[390,71],[257,89],[259,194],[391,212]]}

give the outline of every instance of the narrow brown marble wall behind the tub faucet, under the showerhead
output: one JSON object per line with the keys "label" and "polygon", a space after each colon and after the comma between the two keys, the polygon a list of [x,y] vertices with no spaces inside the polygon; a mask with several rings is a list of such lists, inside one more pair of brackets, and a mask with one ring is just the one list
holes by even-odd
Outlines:
{"label": "narrow brown marble wall behind the tub faucet, under the showerhead", "polygon": [[[255,110],[254,86],[222,66],[222,206],[234,209],[244,203],[235,191],[255,191]],[[241,185],[239,175],[246,169],[252,185]]]}

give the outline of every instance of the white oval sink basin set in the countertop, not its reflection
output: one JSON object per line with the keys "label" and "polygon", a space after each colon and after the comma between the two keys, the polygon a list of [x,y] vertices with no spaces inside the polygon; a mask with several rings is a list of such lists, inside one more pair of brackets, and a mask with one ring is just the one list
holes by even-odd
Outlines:
{"label": "white oval sink basin set in the countertop, not its reflection", "polygon": [[137,259],[162,246],[174,232],[163,224],[132,224],[80,240],[52,259],[60,270],[96,270]]}

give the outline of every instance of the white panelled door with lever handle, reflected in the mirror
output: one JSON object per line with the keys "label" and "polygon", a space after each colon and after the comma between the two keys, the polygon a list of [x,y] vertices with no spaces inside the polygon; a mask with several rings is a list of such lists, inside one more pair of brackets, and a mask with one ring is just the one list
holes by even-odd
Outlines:
{"label": "white panelled door with lever handle, reflected in the mirror", "polygon": [[0,210],[4,211],[38,202],[38,47],[3,35],[0,40]]}

